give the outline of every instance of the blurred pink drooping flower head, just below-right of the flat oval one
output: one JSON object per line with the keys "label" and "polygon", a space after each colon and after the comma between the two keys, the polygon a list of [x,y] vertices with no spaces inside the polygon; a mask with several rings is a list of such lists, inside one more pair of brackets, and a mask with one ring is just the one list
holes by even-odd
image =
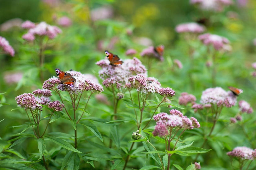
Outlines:
{"label": "blurred pink drooping flower head, just below-right of the flat oval one", "polygon": [[225,50],[224,46],[229,44],[229,40],[225,37],[215,34],[202,34],[198,38],[204,43],[204,45],[213,45],[216,50]]}

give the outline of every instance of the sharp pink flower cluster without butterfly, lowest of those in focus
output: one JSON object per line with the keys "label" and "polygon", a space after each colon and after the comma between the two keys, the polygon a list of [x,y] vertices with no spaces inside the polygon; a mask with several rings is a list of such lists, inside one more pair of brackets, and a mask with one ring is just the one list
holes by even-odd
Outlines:
{"label": "sharp pink flower cluster without butterfly, lowest of those in focus", "polygon": [[153,118],[156,121],[155,130],[152,132],[154,136],[166,136],[169,134],[168,130],[171,133],[171,130],[176,127],[184,129],[200,128],[200,124],[195,117],[189,119],[176,109],[170,110],[170,114],[158,113]]}

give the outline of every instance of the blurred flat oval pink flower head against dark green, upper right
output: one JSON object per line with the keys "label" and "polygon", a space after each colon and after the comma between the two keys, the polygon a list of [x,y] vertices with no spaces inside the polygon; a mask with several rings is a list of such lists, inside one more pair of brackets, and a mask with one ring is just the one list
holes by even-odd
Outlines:
{"label": "blurred flat oval pink flower head against dark green, upper right", "polygon": [[198,23],[182,23],[176,26],[176,32],[191,32],[191,33],[202,33],[204,32],[204,26],[199,25]]}

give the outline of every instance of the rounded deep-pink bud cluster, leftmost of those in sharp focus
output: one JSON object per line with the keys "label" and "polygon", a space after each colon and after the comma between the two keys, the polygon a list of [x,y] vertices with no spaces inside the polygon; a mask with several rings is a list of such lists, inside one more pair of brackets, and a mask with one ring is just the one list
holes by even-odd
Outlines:
{"label": "rounded deep-pink bud cluster, leftmost of those in sharp focus", "polygon": [[18,106],[21,108],[29,108],[34,110],[36,107],[38,107],[36,97],[32,93],[24,93],[22,95],[19,95],[15,98]]}

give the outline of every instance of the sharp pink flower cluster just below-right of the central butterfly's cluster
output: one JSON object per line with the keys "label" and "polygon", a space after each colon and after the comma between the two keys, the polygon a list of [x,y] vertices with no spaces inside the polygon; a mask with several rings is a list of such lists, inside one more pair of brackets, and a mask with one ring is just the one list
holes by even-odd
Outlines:
{"label": "sharp pink flower cluster just below-right of the central butterfly's cluster", "polygon": [[[145,77],[141,74],[137,74],[128,78],[128,82],[131,83],[131,88],[135,88],[137,89],[137,91],[144,94],[155,93],[161,89],[161,84],[158,82],[157,79],[155,79],[154,77]],[[130,87],[130,85],[126,86]],[[160,93],[163,95],[174,95],[175,91],[173,91],[171,88],[162,88],[162,91]]]}

